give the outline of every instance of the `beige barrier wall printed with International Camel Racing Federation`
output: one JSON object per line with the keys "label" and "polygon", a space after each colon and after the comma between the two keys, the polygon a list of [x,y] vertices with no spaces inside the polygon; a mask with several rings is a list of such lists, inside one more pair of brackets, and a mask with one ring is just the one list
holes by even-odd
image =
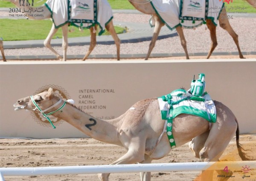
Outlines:
{"label": "beige barrier wall printed with International Camel Racing Federation", "polygon": [[[29,111],[14,111],[17,99],[54,88],[84,112],[116,118],[135,102],[180,87],[190,88],[193,75],[206,75],[206,91],[227,105],[240,133],[256,133],[256,60],[23,61],[0,62],[0,137],[86,137],[66,122]],[[43,122],[44,121],[44,122]]]}

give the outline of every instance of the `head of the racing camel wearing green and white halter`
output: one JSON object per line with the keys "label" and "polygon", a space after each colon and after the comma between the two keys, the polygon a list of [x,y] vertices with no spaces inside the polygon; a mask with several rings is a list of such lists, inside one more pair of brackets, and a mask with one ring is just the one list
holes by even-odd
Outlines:
{"label": "head of the racing camel wearing green and white halter", "polygon": [[60,101],[60,99],[61,98],[53,92],[52,88],[49,88],[47,92],[41,92],[34,96],[21,98],[13,106],[15,107],[15,111],[26,109],[38,112],[39,110],[36,105],[41,110],[45,110],[54,105],[56,102]]}

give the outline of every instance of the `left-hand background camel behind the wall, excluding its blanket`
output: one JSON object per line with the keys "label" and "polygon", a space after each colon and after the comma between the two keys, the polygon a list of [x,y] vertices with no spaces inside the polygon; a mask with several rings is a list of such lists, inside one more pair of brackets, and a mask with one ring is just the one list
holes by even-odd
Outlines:
{"label": "left-hand background camel behind the wall, excluding its blanket", "polygon": [[[33,20],[45,20],[45,19],[49,19],[51,18],[51,12],[49,11],[49,9],[45,6],[39,6],[37,7],[38,9],[41,10],[40,14],[43,14],[43,16],[35,16],[35,14],[38,14],[38,12],[31,12],[29,11],[30,6],[20,6],[19,0],[9,0],[10,2],[14,3],[15,6],[24,9],[25,10],[25,14],[29,14],[29,19],[33,19]],[[26,12],[27,11],[27,12]],[[31,16],[31,14],[33,14],[33,16]],[[120,60],[120,40],[116,34],[116,31],[114,29],[113,26],[113,21],[111,20],[106,26],[105,28],[108,30],[108,32],[110,32],[111,36],[113,37],[115,44],[116,44],[116,51],[117,51],[117,60]],[[47,36],[47,38],[44,40],[44,46],[46,46],[48,49],[50,49],[59,60],[67,60],[67,46],[68,46],[68,23],[64,24],[63,26],[61,26],[62,29],[62,47],[63,47],[63,59],[61,57],[61,55],[59,55],[55,49],[52,48],[51,46],[51,40],[53,35],[58,31],[58,29],[55,29],[54,23],[52,23],[52,28]],[[95,26],[95,29],[97,29],[97,26]],[[90,55],[90,53],[93,51],[94,47],[96,46],[96,31],[93,31],[94,28],[91,27],[90,28],[90,46],[89,49],[87,50],[86,55],[84,56],[83,60],[86,60],[87,57]]]}

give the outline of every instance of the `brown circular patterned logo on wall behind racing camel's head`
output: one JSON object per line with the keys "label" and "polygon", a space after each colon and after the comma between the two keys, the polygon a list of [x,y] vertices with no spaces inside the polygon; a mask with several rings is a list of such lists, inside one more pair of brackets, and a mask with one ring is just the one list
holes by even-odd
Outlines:
{"label": "brown circular patterned logo on wall behind racing camel's head", "polygon": [[[65,89],[63,89],[61,86],[57,86],[53,84],[42,86],[41,88],[35,91],[34,95],[39,94],[41,92],[47,92],[50,87],[52,88],[53,92],[60,95],[62,99],[64,100],[70,99],[69,94]],[[49,121],[46,118],[44,118],[39,112],[32,111],[31,115],[33,119],[41,126],[51,127],[51,124],[49,123]],[[54,116],[51,116],[51,115],[49,116],[49,118],[54,125],[59,125],[63,122],[62,119],[55,118]]]}

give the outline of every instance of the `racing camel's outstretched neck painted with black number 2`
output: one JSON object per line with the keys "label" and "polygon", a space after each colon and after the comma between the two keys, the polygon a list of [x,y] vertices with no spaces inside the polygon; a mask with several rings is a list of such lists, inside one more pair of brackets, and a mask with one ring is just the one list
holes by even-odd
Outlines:
{"label": "racing camel's outstretched neck painted with black number 2", "polygon": [[113,120],[94,118],[69,103],[67,103],[61,111],[52,115],[63,119],[81,132],[98,141],[116,145],[121,144],[117,135],[120,122],[119,118]]}

